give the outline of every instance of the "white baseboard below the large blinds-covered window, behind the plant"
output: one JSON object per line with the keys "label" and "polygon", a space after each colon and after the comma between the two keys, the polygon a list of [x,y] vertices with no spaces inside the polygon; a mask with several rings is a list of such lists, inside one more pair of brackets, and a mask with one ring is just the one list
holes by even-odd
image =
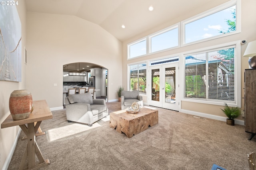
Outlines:
{"label": "white baseboard below the large blinds-covered window, behind the plant", "polygon": [[[227,117],[223,117],[223,116],[211,115],[211,114],[207,114],[207,113],[200,113],[200,112],[190,111],[190,110],[186,110],[186,109],[181,109],[180,112],[190,114],[190,115],[205,117],[205,118],[209,118],[209,119],[225,121],[225,122],[226,122],[226,119],[227,119]],[[244,125],[244,121],[239,120],[239,119],[235,119],[235,124]]]}

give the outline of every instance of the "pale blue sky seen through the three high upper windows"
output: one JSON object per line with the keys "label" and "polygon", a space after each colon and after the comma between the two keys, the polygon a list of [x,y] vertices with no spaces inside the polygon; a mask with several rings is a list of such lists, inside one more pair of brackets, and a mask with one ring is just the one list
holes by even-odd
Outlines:
{"label": "pale blue sky seen through the three high upper windows", "polygon": [[[232,6],[210,16],[206,16],[185,25],[185,42],[191,43],[220,35],[220,31],[228,30],[227,20],[233,19],[232,12],[236,6]],[[152,38],[152,52],[178,46],[178,29],[172,29]],[[130,46],[130,57],[146,55],[146,40]]]}

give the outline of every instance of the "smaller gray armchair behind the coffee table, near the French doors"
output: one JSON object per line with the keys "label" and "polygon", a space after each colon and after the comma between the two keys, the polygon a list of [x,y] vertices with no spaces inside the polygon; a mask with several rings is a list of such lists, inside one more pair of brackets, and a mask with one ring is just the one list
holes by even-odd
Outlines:
{"label": "smaller gray armchair behind the coffee table, near the French doors", "polygon": [[140,107],[143,107],[142,96],[140,96],[140,92],[138,90],[133,91],[125,91],[121,92],[121,109],[126,109],[132,106],[133,102],[138,102]]}

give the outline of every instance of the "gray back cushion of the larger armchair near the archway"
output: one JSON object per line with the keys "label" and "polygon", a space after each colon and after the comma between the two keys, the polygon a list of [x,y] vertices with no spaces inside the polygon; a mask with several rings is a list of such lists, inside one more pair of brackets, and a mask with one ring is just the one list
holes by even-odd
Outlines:
{"label": "gray back cushion of the larger armchair near the archway", "polygon": [[93,104],[92,95],[90,93],[72,94],[68,96],[68,100],[70,104],[73,104],[73,103]]}

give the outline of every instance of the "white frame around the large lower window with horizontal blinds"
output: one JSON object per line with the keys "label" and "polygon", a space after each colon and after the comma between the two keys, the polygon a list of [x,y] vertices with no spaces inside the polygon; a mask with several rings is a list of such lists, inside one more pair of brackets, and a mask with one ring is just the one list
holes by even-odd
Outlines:
{"label": "white frame around the large lower window with horizontal blinds", "polygon": [[[230,47],[232,45],[235,45],[235,50],[234,50],[234,73],[235,73],[235,77],[234,77],[234,98],[235,101],[226,101],[226,103],[228,104],[228,106],[232,106],[232,107],[241,107],[241,41],[234,41],[234,42],[230,42],[230,43],[225,43],[225,44],[220,44],[220,45],[216,45],[216,46],[212,46],[212,47],[206,47],[203,49],[197,49],[197,50],[193,50],[193,51],[188,51],[185,53],[182,53],[182,57],[180,58],[180,75],[184,76],[184,72],[185,72],[185,58],[184,56],[188,55],[188,54],[192,54],[192,53],[204,53],[204,52],[208,52],[214,49],[220,49],[223,47]],[[218,100],[210,100],[210,99],[190,99],[190,98],[184,98],[184,87],[185,87],[185,78],[183,78],[183,80],[180,81],[181,85],[182,85],[182,90],[181,90],[181,100],[182,101],[186,101],[186,102],[195,102],[195,103],[203,103],[203,104],[212,104],[212,105],[219,105],[219,106],[224,106],[224,102],[223,100],[218,101]]]}

